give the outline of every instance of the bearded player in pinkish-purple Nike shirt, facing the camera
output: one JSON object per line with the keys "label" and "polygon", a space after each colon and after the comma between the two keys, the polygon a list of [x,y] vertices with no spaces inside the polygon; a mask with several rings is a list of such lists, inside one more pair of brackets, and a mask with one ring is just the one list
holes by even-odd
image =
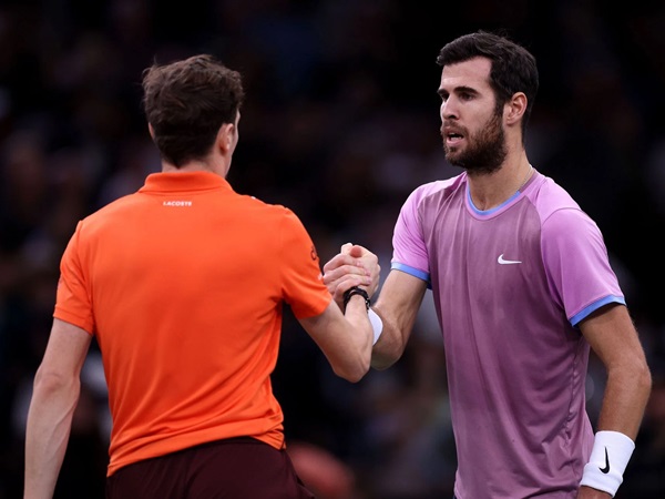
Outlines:
{"label": "bearded player in pinkish-purple Nike shirt, facing the camera", "polygon": [[[391,271],[370,310],[372,366],[400,358],[431,288],[456,498],[614,497],[651,374],[600,228],[526,156],[535,59],[479,31],[448,43],[437,62],[446,157],[463,172],[419,186],[401,208]],[[358,261],[378,264],[348,245],[324,267],[338,303]],[[591,349],[607,369],[596,428],[585,410]]]}

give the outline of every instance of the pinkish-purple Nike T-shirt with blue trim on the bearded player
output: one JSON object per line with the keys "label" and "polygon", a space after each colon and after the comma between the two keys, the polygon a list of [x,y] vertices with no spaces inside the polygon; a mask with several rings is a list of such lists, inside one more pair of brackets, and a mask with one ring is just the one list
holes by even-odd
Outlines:
{"label": "pinkish-purple Nike T-shirt with blue trim on the bearded player", "polygon": [[576,325],[625,305],[601,231],[534,171],[480,211],[467,174],[416,189],[391,267],[431,287],[446,348],[458,499],[575,498],[593,446]]}

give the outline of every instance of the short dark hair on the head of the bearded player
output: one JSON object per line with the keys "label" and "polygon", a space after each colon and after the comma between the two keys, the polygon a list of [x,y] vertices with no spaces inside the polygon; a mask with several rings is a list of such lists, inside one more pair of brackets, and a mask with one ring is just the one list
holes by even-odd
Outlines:
{"label": "short dark hair on the head of the bearded player", "polygon": [[505,34],[479,30],[446,44],[439,52],[437,64],[444,67],[477,57],[492,61],[490,86],[497,96],[498,109],[502,108],[515,92],[524,92],[526,95],[526,110],[522,119],[523,141],[539,86],[535,58]]}

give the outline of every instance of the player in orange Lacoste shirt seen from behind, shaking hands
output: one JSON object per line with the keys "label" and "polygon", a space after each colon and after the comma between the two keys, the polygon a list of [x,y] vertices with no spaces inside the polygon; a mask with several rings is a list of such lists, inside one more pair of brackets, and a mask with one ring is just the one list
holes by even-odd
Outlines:
{"label": "player in orange Lacoste shirt seen from behind, shaking hands", "polygon": [[211,55],[143,74],[162,171],[80,221],[62,256],[53,327],[34,379],[24,499],[53,496],[94,337],[113,418],[106,499],[298,499],[270,386],[283,307],[349,381],[369,369],[365,272],[346,309],[288,208],[226,181],[241,75]]}

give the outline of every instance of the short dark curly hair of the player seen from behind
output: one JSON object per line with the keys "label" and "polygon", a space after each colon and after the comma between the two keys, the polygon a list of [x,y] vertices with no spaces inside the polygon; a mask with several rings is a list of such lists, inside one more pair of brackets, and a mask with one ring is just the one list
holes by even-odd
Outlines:
{"label": "short dark curly hair of the player seen from behind", "polygon": [[205,157],[219,128],[235,123],[241,74],[201,54],[143,71],[143,110],[162,157],[175,166]]}

